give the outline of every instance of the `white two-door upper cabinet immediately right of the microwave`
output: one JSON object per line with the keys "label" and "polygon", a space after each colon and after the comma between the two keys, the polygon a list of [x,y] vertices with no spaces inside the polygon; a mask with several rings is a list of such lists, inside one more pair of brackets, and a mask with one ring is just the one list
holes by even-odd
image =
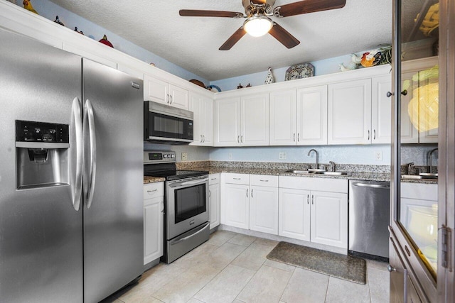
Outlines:
{"label": "white two-door upper cabinet immediately right of the microwave", "polygon": [[213,100],[190,92],[190,111],[194,113],[194,141],[191,145],[213,146]]}

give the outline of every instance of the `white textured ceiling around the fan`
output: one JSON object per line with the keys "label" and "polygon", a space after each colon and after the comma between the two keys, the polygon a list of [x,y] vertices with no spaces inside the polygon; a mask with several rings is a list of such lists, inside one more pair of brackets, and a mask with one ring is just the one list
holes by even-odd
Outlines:
{"label": "white textured ceiling around the fan", "polygon": [[[301,41],[287,49],[271,35],[245,35],[218,50],[243,18],[182,17],[179,9],[244,12],[241,0],[51,0],[209,81],[375,48],[392,40],[392,0],[346,0],[343,9],[274,21]],[[296,0],[277,0],[275,6]]]}

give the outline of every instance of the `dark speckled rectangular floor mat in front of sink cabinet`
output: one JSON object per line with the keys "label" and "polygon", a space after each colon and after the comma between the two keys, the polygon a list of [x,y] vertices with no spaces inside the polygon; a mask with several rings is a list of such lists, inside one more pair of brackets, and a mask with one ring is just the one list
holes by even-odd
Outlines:
{"label": "dark speckled rectangular floor mat in front of sink cabinet", "polygon": [[351,255],[340,255],[316,248],[280,242],[267,255],[267,259],[320,272],[324,275],[339,277],[358,284],[366,283],[365,260]]}

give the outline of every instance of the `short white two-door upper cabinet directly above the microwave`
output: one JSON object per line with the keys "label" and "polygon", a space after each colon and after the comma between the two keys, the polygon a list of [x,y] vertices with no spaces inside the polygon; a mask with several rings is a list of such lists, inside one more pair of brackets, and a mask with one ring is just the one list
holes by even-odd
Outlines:
{"label": "short white two-door upper cabinet directly above the microwave", "polygon": [[150,75],[144,75],[144,100],[189,109],[189,92]]}

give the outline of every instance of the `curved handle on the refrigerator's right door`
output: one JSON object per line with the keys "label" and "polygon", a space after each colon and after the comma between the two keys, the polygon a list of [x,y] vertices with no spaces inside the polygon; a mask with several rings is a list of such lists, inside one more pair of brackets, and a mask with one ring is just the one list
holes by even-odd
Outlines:
{"label": "curved handle on the refrigerator's right door", "polygon": [[89,99],[85,101],[85,114],[84,114],[84,126],[88,125],[88,134],[90,140],[90,162],[88,170],[88,186],[87,186],[87,196],[86,203],[87,209],[90,209],[92,206],[93,200],[93,189],[95,189],[95,177],[97,172],[97,140],[95,135],[95,118],[93,116],[93,107],[92,102]]}

